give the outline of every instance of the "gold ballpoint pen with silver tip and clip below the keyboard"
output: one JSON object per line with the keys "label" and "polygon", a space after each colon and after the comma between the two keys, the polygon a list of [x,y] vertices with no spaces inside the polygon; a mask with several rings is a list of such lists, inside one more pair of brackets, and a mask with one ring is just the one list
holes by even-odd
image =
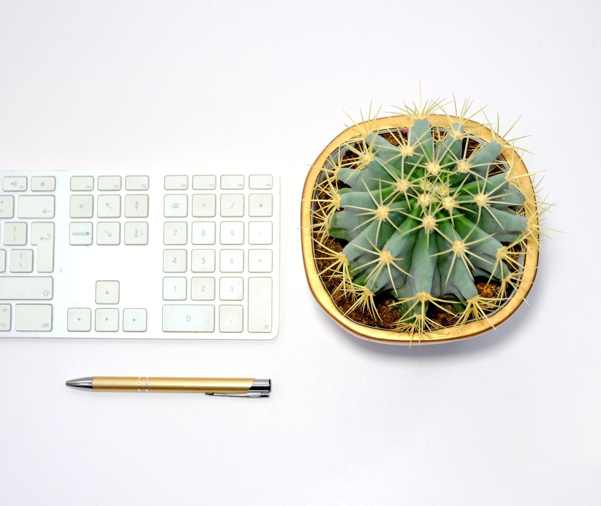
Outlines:
{"label": "gold ballpoint pen with silver tip and clip below the keyboard", "polygon": [[93,392],[206,393],[230,397],[269,397],[271,380],[255,378],[161,378],[94,376],[66,382]]}

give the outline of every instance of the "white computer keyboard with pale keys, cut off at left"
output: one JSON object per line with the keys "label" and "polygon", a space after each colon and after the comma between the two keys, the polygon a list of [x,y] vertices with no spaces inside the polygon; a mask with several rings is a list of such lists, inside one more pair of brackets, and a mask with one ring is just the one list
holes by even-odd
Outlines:
{"label": "white computer keyboard with pale keys, cut off at left", "polygon": [[279,180],[0,172],[0,338],[272,339]]}

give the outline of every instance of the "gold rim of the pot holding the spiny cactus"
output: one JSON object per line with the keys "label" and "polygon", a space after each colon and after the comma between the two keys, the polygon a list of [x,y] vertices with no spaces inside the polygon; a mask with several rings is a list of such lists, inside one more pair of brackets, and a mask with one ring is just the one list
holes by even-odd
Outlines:
{"label": "gold rim of the pot holding the spiny cactus", "polygon": [[[439,128],[450,128],[453,123],[459,121],[456,116],[445,116],[442,114],[430,114],[427,119],[430,125]],[[346,329],[358,338],[366,339],[367,341],[375,341],[385,344],[404,344],[410,345],[415,342],[420,344],[435,344],[441,342],[459,341],[460,339],[468,339],[477,336],[487,330],[494,329],[501,324],[505,319],[509,318],[525,300],[526,295],[532,288],[532,283],[536,277],[538,265],[538,248],[533,238],[528,238],[526,242],[526,251],[524,255],[524,263],[522,276],[520,277],[519,285],[514,290],[511,298],[498,310],[483,319],[466,322],[462,325],[453,327],[443,327],[422,335],[412,335],[407,332],[396,332],[394,330],[377,329],[364,324],[353,321],[346,316],[338,306],[334,303],[328,290],[323,285],[322,279],[317,270],[314,258],[314,239],[311,233],[311,208],[313,193],[317,178],[322,173],[322,168],[325,165],[328,156],[331,155],[338,147],[342,146],[346,141],[356,138],[360,135],[369,132],[381,132],[398,128],[407,128],[413,125],[413,119],[407,115],[388,116],[378,119],[367,120],[347,128],[338,134],[328,146],[317,157],[316,161],[311,165],[302,193],[301,202],[301,243],[303,261],[305,264],[305,274],[307,282],[316,298],[317,302],[322,306],[326,313],[334,319],[341,327]],[[472,120],[463,120],[463,125],[469,129],[471,134],[485,141],[493,139],[492,131],[480,123]],[[514,166],[517,176],[522,177],[522,191],[531,194],[532,203],[527,204],[526,217],[532,218],[535,225],[538,225],[537,205],[535,203],[535,191],[532,185],[532,179],[526,166],[519,154],[511,147],[507,147],[501,152],[502,158],[508,164]],[[534,227],[536,230],[537,228]]]}

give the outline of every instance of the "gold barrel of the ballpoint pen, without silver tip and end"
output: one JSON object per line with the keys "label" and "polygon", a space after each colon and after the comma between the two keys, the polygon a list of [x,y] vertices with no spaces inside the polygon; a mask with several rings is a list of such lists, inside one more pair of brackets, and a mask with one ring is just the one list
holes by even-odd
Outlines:
{"label": "gold barrel of the ballpoint pen, without silver tip and end", "polygon": [[246,393],[255,378],[94,376],[94,392]]}

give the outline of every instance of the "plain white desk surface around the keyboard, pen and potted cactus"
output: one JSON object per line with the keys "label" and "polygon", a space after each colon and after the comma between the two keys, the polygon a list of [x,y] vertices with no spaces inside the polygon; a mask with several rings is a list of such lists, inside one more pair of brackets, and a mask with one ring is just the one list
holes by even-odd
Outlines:
{"label": "plain white desk surface around the keyboard, pen and potted cactus", "polygon": [[[279,336],[0,341],[2,505],[599,505],[598,3],[0,4],[0,169],[281,176]],[[339,329],[302,266],[302,184],[370,103],[489,104],[544,171],[535,286],[469,341]],[[160,273],[157,273],[159,275]],[[256,376],[268,400],[77,392],[86,375]]]}

